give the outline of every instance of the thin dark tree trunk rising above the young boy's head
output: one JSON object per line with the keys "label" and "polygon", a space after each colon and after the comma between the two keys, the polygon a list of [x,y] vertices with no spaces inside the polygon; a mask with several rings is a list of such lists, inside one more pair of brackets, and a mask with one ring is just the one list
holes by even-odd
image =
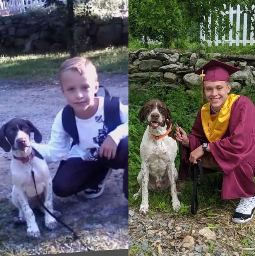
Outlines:
{"label": "thin dark tree trunk rising above the young boy's head", "polygon": [[74,40],[74,0],[67,0],[67,27],[69,33],[69,52],[70,57],[76,57],[76,47]]}

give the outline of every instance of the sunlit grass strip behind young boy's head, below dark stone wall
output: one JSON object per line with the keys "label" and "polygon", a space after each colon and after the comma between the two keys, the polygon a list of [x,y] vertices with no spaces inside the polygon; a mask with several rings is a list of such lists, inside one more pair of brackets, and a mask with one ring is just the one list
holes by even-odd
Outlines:
{"label": "sunlit grass strip behind young boy's head, below dark stone wall", "polygon": [[[79,54],[88,57],[98,72],[127,73],[127,47],[105,48]],[[58,73],[63,61],[69,58],[68,53],[1,55],[0,78],[27,78],[33,76],[51,77]]]}

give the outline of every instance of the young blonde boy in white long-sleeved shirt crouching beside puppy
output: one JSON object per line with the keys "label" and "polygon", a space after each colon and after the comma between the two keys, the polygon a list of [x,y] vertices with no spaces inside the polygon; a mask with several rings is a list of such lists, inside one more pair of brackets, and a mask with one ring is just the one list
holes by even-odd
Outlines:
{"label": "young blonde boy in white long-sleeved shirt crouching beside puppy", "polygon": [[[92,62],[81,57],[68,59],[60,67],[59,80],[69,115],[73,116],[64,116],[65,108],[61,109],[53,122],[48,144],[33,143],[47,163],[61,161],[53,178],[53,192],[68,197],[84,191],[88,199],[99,197],[111,168],[123,168],[123,192],[127,198],[128,106],[119,103],[121,122],[109,131],[104,115],[105,98],[95,96],[99,84]],[[79,136],[71,147],[73,137],[64,127]]]}

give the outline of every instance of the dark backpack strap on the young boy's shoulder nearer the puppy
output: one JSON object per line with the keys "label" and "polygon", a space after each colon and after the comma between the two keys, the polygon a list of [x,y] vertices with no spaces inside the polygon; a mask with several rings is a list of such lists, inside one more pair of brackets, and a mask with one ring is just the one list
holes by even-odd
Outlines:
{"label": "dark backpack strap on the young boy's shoulder nearer the puppy", "polygon": [[78,134],[77,126],[76,126],[74,109],[70,105],[67,105],[63,108],[62,125],[63,125],[64,130],[73,139],[71,148],[73,147],[73,145],[79,144],[80,140],[79,140],[79,134]]}

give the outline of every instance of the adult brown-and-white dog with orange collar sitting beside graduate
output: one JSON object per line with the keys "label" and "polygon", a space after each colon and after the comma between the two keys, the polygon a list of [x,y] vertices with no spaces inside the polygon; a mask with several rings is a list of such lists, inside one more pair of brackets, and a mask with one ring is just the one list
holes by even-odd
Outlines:
{"label": "adult brown-and-white dog with orange collar sitting beside graduate", "polygon": [[147,214],[148,189],[171,189],[173,210],[177,212],[181,209],[176,190],[178,171],[175,168],[175,157],[178,147],[171,130],[171,112],[161,100],[150,100],[140,109],[139,119],[141,123],[146,120],[148,126],[140,144],[142,164],[137,176],[140,189],[133,195],[133,199],[142,194],[139,212]]}

